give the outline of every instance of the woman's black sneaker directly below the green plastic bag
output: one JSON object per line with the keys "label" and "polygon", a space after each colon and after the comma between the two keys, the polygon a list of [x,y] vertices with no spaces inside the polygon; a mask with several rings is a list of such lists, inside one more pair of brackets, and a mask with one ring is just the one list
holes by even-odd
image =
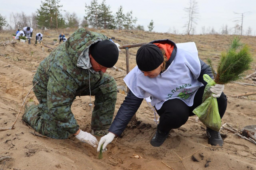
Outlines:
{"label": "woman's black sneaker directly below the green plastic bag", "polygon": [[209,127],[206,128],[206,135],[209,138],[209,143],[212,146],[223,146],[223,140],[220,136],[220,132],[210,129]]}

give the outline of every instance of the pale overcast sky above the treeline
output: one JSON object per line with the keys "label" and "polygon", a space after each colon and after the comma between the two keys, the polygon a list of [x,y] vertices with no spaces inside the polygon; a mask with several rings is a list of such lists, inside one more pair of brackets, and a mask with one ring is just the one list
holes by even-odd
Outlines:
{"label": "pale overcast sky above the treeline", "polygon": [[[196,27],[196,33],[201,33],[202,26],[205,29],[214,27],[216,31],[220,31],[222,25],[228,25],[228,28],[234,27],[233,18],[239,17],[233,13],[245,13],[243,22],[243,32],[245,33],[250,26],[252,35],[256,35],[256,0],[197,0],[199,6],[199,20]],[[85,15],[85,3],[90,4],[91,0],[61,0],[63,5],[62,10],[70,13],[75,12],[81,19]],[[99,3],[102,0],[98,0]],[[106,0],[106,3],[111,6],[113,13],[117,12],[120,5],[123,6],[124,13],[132,10],[133,17],[138,18],[137,24],[144,25],[145,30],[148,30],[147,25],[153,19],[156,32],[167,32],[173,27],[179,33],[183,33],[186,24],[186,13],[184,8],[188,7],[189,0],[129,0],[117,1]],[[41,0],[20,1],[20,0],[1,0],[0,13],[9,18],[11,12],[25,12],[30,15],[40,7]],[[64,14],[64,12],[63,12]]]}

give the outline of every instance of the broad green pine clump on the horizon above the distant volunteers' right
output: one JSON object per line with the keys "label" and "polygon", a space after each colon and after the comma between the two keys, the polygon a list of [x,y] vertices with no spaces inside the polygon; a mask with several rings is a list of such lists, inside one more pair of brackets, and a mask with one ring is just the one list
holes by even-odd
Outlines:
{"label": "broad green pine clump on the horizon above the distant volunteers' right", "polygon": [[45,0],[37,9],[37,22],[39,27],[56,28],[65,27],[65,20],[60,13],[60,0]]}

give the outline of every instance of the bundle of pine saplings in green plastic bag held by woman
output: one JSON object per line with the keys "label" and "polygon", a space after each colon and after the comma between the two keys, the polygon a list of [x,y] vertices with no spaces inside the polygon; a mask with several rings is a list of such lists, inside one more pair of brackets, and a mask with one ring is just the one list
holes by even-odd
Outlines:
{"label": "bundle of pine saplings in green plastic bag held by woman", "polygon": [[214,71],[214,65],[210,58],[207,59],[214,75],[214,80],[204,74],[204,81],[207,85],[204,89],[202,104],[193,110],[199,120],[207,127],[219,131],[221,119],[219,115],[217,99],[212,96],[211,86],[215,84],[228,84],[242,80],[248,70],[251,70],[253,57],[251,48],[247,44],[241,43],[240,37],[233,37],[229,48],[222,52],[217,64],[217,73]]}

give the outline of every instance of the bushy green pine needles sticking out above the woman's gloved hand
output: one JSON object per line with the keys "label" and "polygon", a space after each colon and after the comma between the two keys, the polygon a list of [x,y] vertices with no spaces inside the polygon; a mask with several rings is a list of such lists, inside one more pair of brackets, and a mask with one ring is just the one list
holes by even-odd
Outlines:
{"label": "bushy green pine needles sticking out above the woman's gloved hand", "polygon": [[214,65],[210,58],[207,59],[214,81],[217,84],[227,84],[242,80],[246,72],[251,70],[253,56],[251,48],[241,42],[241,38],[234,36],[226,52],[222,52],[217,65],[217,74],[214,72]]}

